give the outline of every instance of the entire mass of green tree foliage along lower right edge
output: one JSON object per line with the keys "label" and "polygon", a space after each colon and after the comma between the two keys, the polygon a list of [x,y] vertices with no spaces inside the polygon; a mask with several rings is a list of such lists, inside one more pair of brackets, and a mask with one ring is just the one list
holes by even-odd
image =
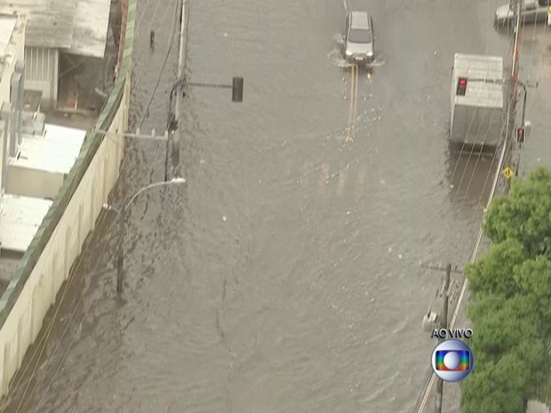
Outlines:
{"label": "entire mass of green tree foliage along lower right edge", "polygon": [[523,413],[551,402],[551,171],[515,180],[484,216],[491,250],[467,266],[475,369],[462,413]]}

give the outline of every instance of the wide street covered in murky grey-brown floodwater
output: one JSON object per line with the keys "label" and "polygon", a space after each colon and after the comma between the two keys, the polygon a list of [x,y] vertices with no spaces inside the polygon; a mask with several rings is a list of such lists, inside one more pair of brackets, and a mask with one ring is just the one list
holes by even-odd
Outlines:
{"label": "wide street covered in murky grey-brown floodwater", "polygon": [[[244,101],[187,89],[188,183],[133,204],[124,303],[106,220],[6,411],[411,412],[443,276],[419,261],[468,260],[492,180],[448,148],[453,55],[507,57],[510,37],[499,0],[404,3],[368,2],[368,71],[340,59],[342,2],[191,0],[188,81],[243,76]],[[175,4],[140,0],[132,129],[164,131]],[[164,143],[130,152],[127,195],[164,179]]]}

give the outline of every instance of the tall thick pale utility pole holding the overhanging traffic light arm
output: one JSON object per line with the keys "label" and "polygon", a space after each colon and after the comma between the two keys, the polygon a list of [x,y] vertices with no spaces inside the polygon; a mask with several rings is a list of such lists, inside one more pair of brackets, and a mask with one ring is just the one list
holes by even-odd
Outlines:
{"label": "tall thick pale utility pole holding the overhanging traffic light arm", "polygon": [[174,176],[178,176],[177,169],[180,166],[180,142],[182,124],[180,123],[180,109],[184,92],[184,66],[186,61],[186,0],[181,0],[180,6],[180,53],[178,57],[178,80],[176,81],[176,103],[174,104],[174,124],[175,129],[172,132],[172,167]]}

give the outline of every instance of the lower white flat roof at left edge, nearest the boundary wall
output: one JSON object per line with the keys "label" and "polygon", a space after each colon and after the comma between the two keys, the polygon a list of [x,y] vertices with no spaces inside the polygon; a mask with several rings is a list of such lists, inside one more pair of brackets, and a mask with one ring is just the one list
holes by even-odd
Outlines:
{"label": "lower white flat roof at left edge, nearest the boundary wall", "polygon": [[45,199],[2,195],[0,200],[2,250],[25,252],[51,206],[52,201]]}

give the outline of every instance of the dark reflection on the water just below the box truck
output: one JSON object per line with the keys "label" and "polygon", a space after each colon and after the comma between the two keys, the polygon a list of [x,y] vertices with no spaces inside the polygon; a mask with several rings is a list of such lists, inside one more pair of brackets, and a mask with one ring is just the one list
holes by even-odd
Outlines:
{"label": "dark reflection on the water just below the box truck", "polygon": [[462,146],[448,141],[446,179],[455,210],[483,210],[499,162],[498,147]]}

